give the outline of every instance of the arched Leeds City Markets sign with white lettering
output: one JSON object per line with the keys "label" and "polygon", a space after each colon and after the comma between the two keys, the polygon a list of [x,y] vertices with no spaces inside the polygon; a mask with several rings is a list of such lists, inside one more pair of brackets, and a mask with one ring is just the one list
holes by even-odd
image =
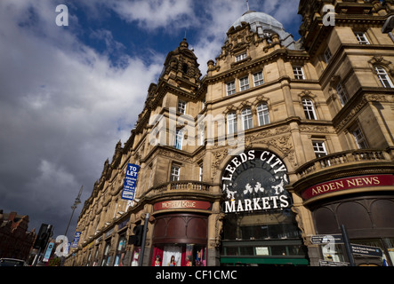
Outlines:
{"label": "arched Leeds City Markets sign with white lettering", "polygon": [[247,150],[222,171],[223,210],[236,213],[290,208],[292,199],[284,187],[288,183],[285,163],[276,154]]}

